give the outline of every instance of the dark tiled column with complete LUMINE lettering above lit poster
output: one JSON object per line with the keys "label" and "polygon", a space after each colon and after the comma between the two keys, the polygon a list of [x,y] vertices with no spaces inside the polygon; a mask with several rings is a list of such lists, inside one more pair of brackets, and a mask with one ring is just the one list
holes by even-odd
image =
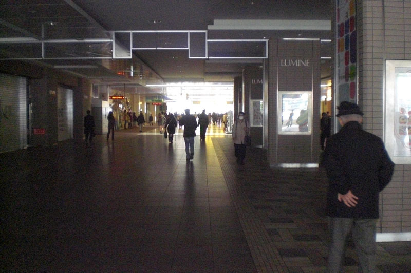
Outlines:
{"label": "dark tiled column with complete LUMINE lettering above lit poster", "polygon": [[[294,132],[282,129],[278,114],[278,92],[311,92],[308,107],[309,131],[294,120]],[[293,93],[294,92],[294,93]],[[303,115],[298,110],[296,117]],[[294,117],[295,118],[295,117]],[[268,65],[268,161],[270,166],[315,166],[320,157],[320,41],[269,40]],[[284,121],[288,116],[284,117]],[[279,123],[278,123],[279,122]],[[280,124],[280,125],[278,125]],[[290,128],[291,129],[291,128]],[[310,164],[310,165],[307,165]],[[314,165],[312,165],[314,164]]]}

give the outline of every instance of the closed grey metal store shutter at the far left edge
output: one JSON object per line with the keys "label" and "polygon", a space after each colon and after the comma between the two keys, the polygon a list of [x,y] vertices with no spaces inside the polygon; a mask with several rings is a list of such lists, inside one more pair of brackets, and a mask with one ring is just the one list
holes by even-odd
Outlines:
{"label": "closed grey metal store shutter at the far left edge", "polygon": [[0,152],[27,145],[27,80],[0,73]]}

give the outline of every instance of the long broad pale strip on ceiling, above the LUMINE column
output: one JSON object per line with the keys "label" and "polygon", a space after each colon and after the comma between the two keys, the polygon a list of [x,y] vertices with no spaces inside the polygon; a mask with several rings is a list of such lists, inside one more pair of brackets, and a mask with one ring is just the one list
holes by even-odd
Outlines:
{"label": "long broad pale strip on ceiling, above the LUMINE column", "polygon": [[209,30],[331,30],[331,20],[214,20]]}

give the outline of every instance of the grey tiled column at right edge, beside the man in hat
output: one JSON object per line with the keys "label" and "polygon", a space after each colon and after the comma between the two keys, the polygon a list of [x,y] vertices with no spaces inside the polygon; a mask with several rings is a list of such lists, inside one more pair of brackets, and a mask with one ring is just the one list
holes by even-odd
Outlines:
{"label": "grey tiled column at right edge, beside the man in hat", "polygon": [[[384,137],[385,60],[411,60],[411,2],[358,0],[359,104],[363,128]],[[380,194],[382,233],[411,232],[411,165],[396,164]]]}

